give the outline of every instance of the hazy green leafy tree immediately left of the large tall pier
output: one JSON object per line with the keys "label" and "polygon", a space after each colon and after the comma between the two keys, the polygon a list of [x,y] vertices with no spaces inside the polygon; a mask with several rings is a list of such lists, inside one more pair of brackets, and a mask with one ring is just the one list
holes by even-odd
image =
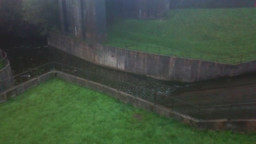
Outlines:
{"label": "hazy green leafy tree immediately left of the large tall pier", "polygon": [[22,0],[22,17],[37,26],[41,35],[50,27],[59,27],[58,3],[54,0]]}

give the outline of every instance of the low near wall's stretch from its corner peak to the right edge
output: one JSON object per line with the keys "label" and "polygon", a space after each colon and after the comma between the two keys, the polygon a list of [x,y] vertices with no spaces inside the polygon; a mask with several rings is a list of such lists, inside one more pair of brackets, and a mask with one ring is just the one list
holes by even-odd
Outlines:
{"label": "low near wall's stretch from its corner peak to the right edge", "polygon": [[214,121],[200,121],[189,116],[181,115],[180,113],[174,112],[170,109],[166,109],[165,107],[155,105],[146,100],[133,97],[130,94],[120,92],[117,89],[101,85],[100,83],[88,81],[80,77],[61,73],[59,71],[55,71],[55,76],[69,82],[77,83],[80,86],[91,88],[96,91],[111,95],[112,97],[119,99],[125,104],[131,104],[139,109],[147,110],[149,112],[155,112],[158,113],[160,116],[166,116],[172,119],[176,119],[179,122],[193,125],[194,127],[199,129],[234,130],[246,132],[256,131],[256,119],[238,119],[231,121],[228,119],[220,119]]}

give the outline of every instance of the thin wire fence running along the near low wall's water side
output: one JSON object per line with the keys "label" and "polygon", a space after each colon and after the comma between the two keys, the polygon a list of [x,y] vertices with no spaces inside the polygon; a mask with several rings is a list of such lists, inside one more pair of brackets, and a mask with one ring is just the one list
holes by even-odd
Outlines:
{"label": "thin wire fence running along the near low wall's water side", "polygon": [[243,104],[229,104],[229,105],[209,105],[199,106],[176,99],[168,94],[163,94],[161,91],[146,88],[141,85],[131,84],[125,81],[115,79],[103,73],[97,73],[86,69],[80,69],[69,65],[50,62],[40,67],[28,70],[22,74],[11,77],[10,79],[0,82],[1,92],[10,87],[4,87],[13,80],[15,86],[20,85],[28,80],[31,80],[39,75],[48,73],[51,70],[61,71],[73,76],[81,77],[83,79],[101,83],[102,85],[118,89],[118,91],[125,92],[144,100],[147,100],[155,105],[164,106],[175,112],[182,113],[197,119],[251,119],[256,118],[256,103],[243,103]]}

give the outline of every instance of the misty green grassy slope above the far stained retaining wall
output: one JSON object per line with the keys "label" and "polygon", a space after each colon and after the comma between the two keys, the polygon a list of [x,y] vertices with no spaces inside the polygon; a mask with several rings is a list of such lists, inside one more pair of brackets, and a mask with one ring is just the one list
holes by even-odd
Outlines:
{"label": "misty green grassy slope above the far stained retaining wall", "polygon": [[161,20],[119,20],[108,28],[108,45],[224,63],[251,61],[255,13],[255,8],[172,9]]}

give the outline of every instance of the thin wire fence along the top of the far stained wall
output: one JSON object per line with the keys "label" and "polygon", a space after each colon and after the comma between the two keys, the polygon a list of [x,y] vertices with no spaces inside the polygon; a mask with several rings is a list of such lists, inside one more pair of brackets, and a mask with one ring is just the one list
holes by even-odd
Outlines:
{"label": "thin wire fence along the top of the far stained wall", "polygon": [[[75,34],[68,32],[59,32],[66,37],[81,41],[82,43],[91,44],[94,41],[89,39],[78,39]],[[256,59],[256,51],[246,52],[246,53],[230,53],[230,52],[211,52],[211,51],[196,51],[190,49],[177,49],[171,47],[163,46],[152,46],[152,45],[143,45],[137,43],[129,43],[124,41],[115,41],[112,44],[106,44],[107,46],[118,47],[121,49],[143,51],[148,53],[155,53],[158,55],[172,56],[172,57],[181,57],[181,58],[190,58],[197,59],[200,61],[210,61],[226,64],[241,64],[249,61],[254,61]]]}

